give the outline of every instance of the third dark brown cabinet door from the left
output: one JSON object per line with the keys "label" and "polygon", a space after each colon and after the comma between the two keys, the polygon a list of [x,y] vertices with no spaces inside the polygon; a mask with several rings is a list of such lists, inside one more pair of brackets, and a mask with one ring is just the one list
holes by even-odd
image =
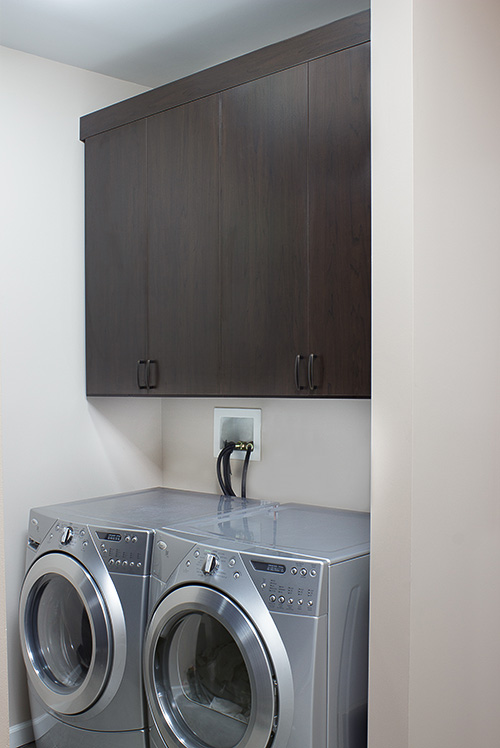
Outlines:
{"label": "third dark brown cabinet door from the left", "polygon": [[222,94],[224,395],[294,395],[307,350],[307,66]]}

